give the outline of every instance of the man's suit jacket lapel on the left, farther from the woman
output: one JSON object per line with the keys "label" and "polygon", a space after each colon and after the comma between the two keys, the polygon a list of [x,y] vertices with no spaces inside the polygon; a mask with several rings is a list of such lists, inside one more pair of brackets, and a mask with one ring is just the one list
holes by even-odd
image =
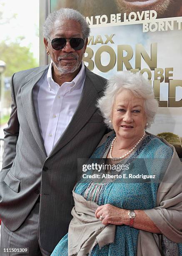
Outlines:
{"label": "man's suit jacket lapel on the left, farther from the woman", "polygon": [[37,145],[40,147],[42,152],[47,156],[44,141],[42,139],[39,124],[37,121],[37,115],[35,112],[35,106],[33,101],[33,87],[40,80],[42,75],[47,72],[48,67],[40,67],[36,72],[30,73],[30,80],[21,88],[21,100],[22,105],[25,111],[25,115],[27,118],[27,122],[30,126],[30,130],[32,131],[32,135],[35,138]]}

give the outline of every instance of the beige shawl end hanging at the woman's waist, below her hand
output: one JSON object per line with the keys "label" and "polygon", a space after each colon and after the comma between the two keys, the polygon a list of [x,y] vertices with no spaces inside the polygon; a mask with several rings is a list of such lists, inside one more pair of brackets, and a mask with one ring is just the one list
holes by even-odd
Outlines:
{"label": "beige shawl end hanging at the woman's waist, below her hand", "polygon": [[75,207],[72,209],[72,220],[68,230],[68,256],[85,256],[98,243],[100,248],[108,243],[114,243],[115,225],[103,225],[95,218],[95,211],[99,205],[87,201],[76,194],[73,198]]}

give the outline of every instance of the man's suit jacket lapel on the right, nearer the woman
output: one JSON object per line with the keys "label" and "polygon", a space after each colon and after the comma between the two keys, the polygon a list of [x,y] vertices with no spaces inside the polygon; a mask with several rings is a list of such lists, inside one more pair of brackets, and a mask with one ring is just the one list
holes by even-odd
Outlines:
{"label": "man's suit jacket lapel on the right, nearer the woman", "polygon": [[85,84],[82,90],[82,95],[77,110],[73,115],[72,120],[67,126],[65,132],[57,141],[54,148],[52,148],[52,151],[50,152],[50,155],[48,157],[55,154],[72,138],[74,138],[75,135],[82,129],[82,127],[87,123],[87,121],[91,118],[91,116],[97,109],[93,102],[95,102],[95,100],[99,97],[99,92],[103,90],[103,84],[101,86],[100,81],[97,79],[97,76],[94,73],[90,72],[87,67],[85,67],[85,72]]}

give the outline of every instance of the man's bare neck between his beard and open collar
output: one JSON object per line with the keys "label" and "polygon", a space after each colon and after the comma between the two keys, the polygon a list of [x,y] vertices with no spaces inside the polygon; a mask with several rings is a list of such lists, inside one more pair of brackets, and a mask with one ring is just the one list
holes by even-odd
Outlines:
{"label": "man's bare neck between his beard and open collar", "polygon": [[77,74],[80,72],[81,66],[73,73],[67,73],[67,74],[60,74],[58,70],[52,66],[52,79],[59,84],[60,86],[65,82],[71,82]]}

